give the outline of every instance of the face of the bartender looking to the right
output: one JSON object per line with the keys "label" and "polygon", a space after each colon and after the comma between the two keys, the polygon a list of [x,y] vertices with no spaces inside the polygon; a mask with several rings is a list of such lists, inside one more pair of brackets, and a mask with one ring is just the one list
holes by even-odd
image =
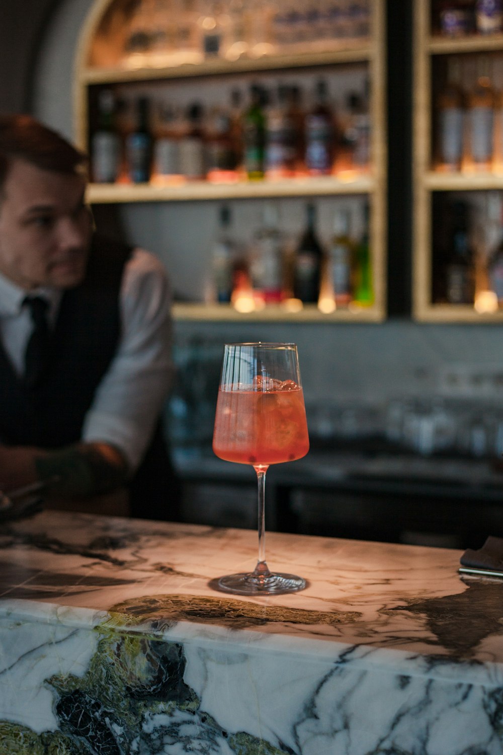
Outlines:
{"label": "face of the bartender looking to the right", "polygon": [[92,223],[84,176],[15,160],[0,199],[0,273],[29,291],[84,278]]}

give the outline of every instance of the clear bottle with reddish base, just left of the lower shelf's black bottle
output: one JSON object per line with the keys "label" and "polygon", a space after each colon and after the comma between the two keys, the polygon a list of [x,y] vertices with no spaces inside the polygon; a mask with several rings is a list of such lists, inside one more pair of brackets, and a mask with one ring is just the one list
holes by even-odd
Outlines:
{"label": "clear bottle with reddish base, just left of the lower shelf's black bottle", "polygon": [[262,226],[252,243],[250,276],[256,299],[264,304],[281,301],[284,291],[284,240],[278,230],[278,210],[275,205],[264,206]]}

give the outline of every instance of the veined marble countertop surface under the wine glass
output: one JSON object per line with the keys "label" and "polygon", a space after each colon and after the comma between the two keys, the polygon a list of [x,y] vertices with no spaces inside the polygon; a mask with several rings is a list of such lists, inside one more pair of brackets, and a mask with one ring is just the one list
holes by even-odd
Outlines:
{"label": "veined marble countertop surface under the wine glass", "polygon": [[0,616],[109,621],[190,643],[244,643],[364,667],[503,684],[503,581],[458,573],[458,550],[268,533],[300,593],[213,590],[253,569],[256,533],[45,511],[0,530]]}

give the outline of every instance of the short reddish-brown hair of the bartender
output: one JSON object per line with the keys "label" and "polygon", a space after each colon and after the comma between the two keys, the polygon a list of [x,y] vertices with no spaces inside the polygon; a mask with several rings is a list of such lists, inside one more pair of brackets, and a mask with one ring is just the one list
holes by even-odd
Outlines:
{"label": "short reddish-brown hair of the bartender", "polygon": [[14,160],[66,174],[87,173],[87,156],[31,116],[0,115],[0,191]]}

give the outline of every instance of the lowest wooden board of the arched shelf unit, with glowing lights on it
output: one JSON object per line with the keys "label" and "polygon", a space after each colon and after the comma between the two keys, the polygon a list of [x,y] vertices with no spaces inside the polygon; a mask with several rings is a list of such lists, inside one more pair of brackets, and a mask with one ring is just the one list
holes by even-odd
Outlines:
{"label": "lowest wooden board of the arched shelf unit, with glowing lights on it", "polygon": [[241,313],[230,304],[173,304],[173,318],[201,322],[382,322],[385,313],[379,307],[351,307],[324,314],[315,304],[305,304],[299,311],[276,304]]}

